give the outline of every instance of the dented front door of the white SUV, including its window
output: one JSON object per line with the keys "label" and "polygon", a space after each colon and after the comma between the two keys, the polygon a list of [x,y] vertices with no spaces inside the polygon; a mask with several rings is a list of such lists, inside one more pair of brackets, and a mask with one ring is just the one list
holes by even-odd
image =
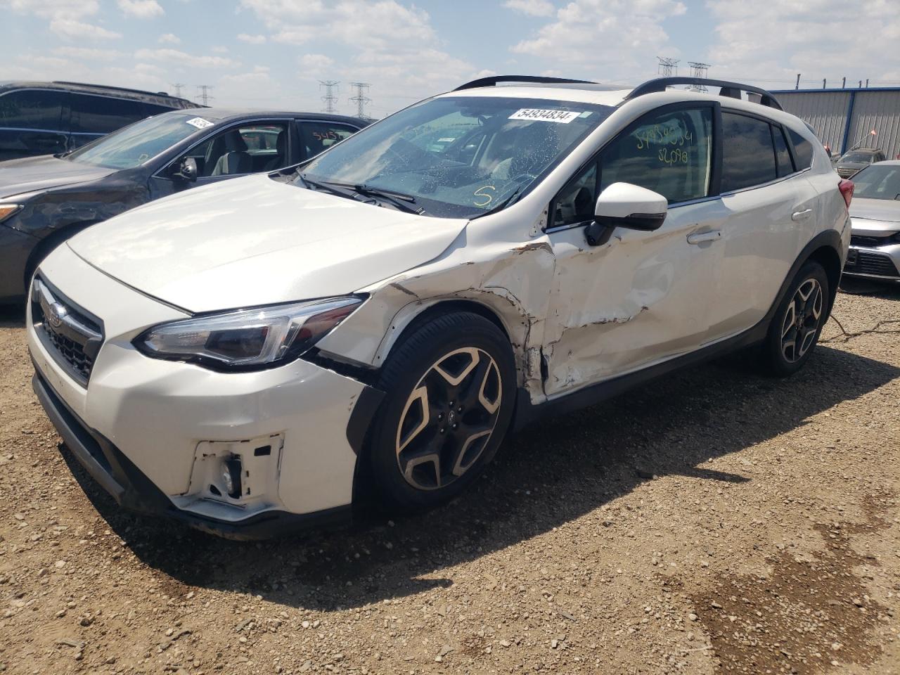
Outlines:
{"label": "dented front door of the white SUV, including its window", "polygon": [[[583,386],[696,349],[707,336],[718,231],[709,194],[716,103],[650,112],[581,169],[551,205],[556,267],[547,313],[545,393]],[[617,228],[590,247],[584,226],[609,184],[637,184],[670,202],[653,232]]]}

